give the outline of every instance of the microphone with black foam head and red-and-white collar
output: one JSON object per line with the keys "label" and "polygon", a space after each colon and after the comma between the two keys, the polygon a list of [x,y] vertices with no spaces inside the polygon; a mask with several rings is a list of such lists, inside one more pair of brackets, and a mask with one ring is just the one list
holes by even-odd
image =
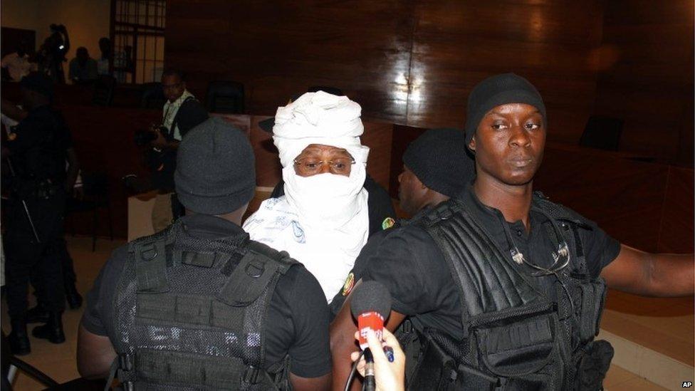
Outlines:
{"label": "microphone with black foam head and red-and-white collar", "polygon": [[367,348],[367,330],[382,340],[384,321],[391,313],[391,293],[377,281],[363,281],[355,288],[350,299],[350,312],[357,318],[360,330],[360,348]]}

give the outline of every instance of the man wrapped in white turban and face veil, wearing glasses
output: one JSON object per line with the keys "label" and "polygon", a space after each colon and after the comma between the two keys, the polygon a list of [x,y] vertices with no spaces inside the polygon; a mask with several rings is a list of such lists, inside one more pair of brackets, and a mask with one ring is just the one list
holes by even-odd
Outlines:
{"label": "man wrapped in white turban and face veil, wearing glasses", "polygon": [[284,195],[266,199],[244,223],[251,239],[304,264],[328,302],[343,288],[370,235],[369,148],[360,143],[361,111],[347,97],[323,91],[278,108],[273,142]]}

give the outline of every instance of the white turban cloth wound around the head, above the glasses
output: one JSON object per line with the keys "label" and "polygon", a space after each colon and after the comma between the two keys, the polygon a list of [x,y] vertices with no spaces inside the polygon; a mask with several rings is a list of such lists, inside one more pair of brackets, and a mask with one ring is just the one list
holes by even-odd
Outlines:
{"label": "white turban cloth wound around the head, above the glasses", "polygon": [[293,103],[278,108],[273,127],[273,142],[280,152],[283,167],[310,144],[331,145],[348,150],[356,164],[366,165],[369,147],[360,142],[365,131],[360,105],[347,96],[318,91],[305,93]]}

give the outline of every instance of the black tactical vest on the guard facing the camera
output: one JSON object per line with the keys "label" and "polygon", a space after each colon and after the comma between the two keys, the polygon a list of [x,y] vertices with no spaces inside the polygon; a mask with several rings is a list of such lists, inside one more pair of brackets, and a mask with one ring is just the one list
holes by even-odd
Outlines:
{"label": "black tactical vest on the guard facing the camera", "polygon": [[[605,282],[587,271],[584,219],[535,194],[533,207],[554,219],[570,264],[556,273],[556,301],[486,234],[456,199],[416,217],[439,246],[461,298],[463,340],[407,320],[409,390],[600,390],[612,348],[599,332]],[[409,327],[414,326],[417,333]]]}

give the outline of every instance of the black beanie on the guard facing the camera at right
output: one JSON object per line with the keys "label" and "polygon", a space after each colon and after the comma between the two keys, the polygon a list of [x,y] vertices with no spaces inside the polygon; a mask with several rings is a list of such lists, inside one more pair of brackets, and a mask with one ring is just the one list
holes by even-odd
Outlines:
{"label": "black beanie on the guard facing the camera at right", "polygon": [[466,147],[476,134],[476,129],[483,117],[496,106],[507,103],[526,103],[532,105],[545,117],[545,104],[540,93],[525,78],[514,73],[494,75],[476,85],[468,96],[468,113],[466,113]]}

